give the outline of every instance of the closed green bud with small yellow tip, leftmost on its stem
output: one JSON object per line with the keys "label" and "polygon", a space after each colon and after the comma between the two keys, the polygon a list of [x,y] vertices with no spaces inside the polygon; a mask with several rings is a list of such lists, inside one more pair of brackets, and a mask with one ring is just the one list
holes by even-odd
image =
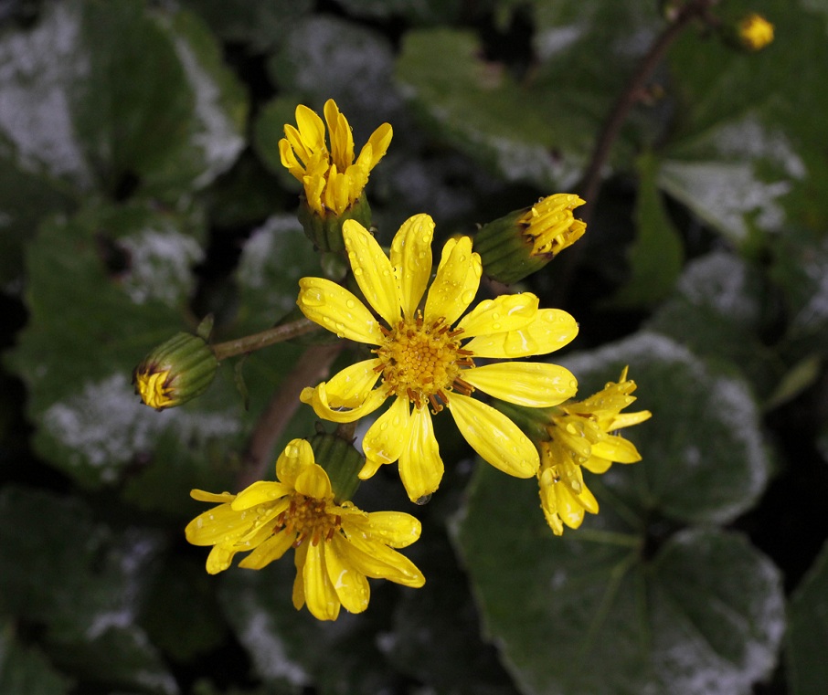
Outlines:
{"label": "closed green bud with small yellow tip, leftmost on its stem", "polygon": [[175,407],[207,391],[217,370],[216,355],[203,338],[176,333],[135,367],[135,393],[155,410]]}

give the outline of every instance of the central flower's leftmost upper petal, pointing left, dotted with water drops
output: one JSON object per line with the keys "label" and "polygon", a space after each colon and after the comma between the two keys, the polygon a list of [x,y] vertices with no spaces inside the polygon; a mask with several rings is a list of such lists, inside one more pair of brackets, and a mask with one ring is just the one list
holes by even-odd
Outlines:
{"label": "central flower's leftmost upper petal, pointing left, dotted with water drops", "polygon": [[340,338],[371,345],[382,342],[377,319],[344,287],[324,278],[300,279],[299,287],[296,303],[311,321]]}

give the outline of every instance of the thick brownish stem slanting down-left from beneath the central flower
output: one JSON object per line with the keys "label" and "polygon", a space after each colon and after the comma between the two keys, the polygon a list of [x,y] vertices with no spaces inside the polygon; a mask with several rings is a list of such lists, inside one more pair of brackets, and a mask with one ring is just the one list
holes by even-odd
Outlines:
{"label": "thick brownish stem slanting down-left from beneath the central flower", "polygon": [[268,466],[274,460],[273,448],[300,405],[299,395],[302,389],[315,385],[327,375],[343,344],[344,342],[337,342],[334,345],[309,347],[299,358],[292,373],[280,384],[250,435],[236,479],[238,490],[244,490],[265,477]]}

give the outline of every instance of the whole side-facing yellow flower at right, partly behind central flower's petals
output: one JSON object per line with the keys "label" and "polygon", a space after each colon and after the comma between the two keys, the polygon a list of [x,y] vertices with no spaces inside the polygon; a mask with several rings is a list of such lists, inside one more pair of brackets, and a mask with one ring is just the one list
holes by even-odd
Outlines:
{"label": "whole side-facing yellow flower at right, partly behind central flower's petals", "polygon": [[652,416],[649,410],[621,413],[635,400],[635,383],[627,368],[618,383],[610,382],[583,401],[557,407],[547,426],[549,439],[539,444],[541,465],[537,478],[540,500],[549,527],[556,535],[564,524],[577,529],[584,512],[598,513],[598,501],[584,483],[581,467],[592,473],[606,472],[613,462],[641,460],[638,449],[615,431],[638,425]]}

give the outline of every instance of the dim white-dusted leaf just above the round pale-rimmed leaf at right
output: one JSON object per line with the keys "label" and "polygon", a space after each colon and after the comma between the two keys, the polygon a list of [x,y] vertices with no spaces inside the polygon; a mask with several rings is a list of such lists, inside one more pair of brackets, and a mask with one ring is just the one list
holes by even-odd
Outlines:
{"label": "dim white-dusted leaf just above the round pale-rimmed leaf at right", "polygon": [[742,370],[761,395],[780,383],[784,365],[759,336],[773,303],[758,269],[724,251],[689,263],[646,327],[683,342],[701,357]]}

